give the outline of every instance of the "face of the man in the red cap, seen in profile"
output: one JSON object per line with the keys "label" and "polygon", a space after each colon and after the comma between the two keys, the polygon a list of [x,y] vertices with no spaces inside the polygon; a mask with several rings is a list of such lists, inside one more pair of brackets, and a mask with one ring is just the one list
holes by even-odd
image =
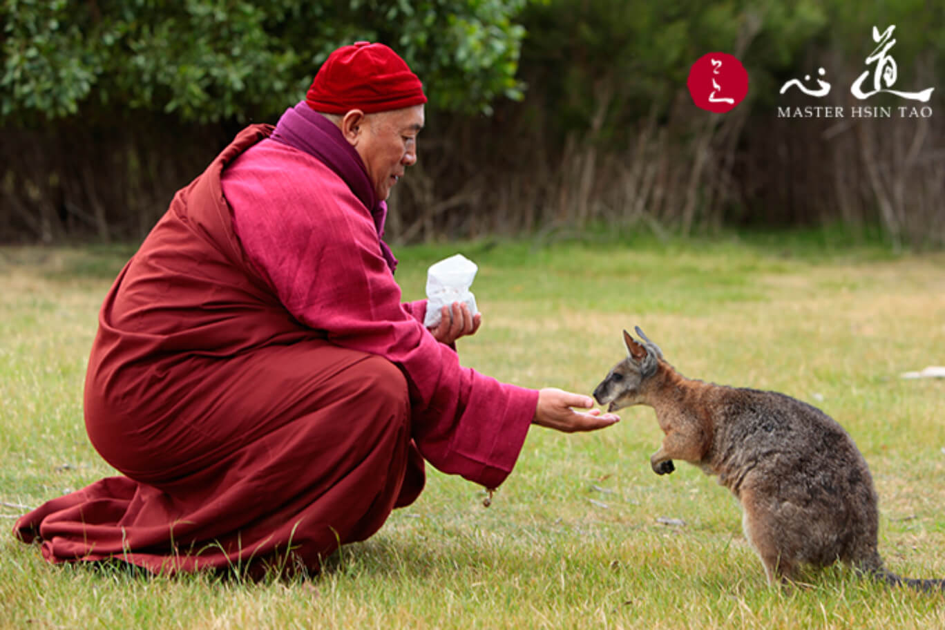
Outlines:
{"label": "face of the man in the red cap, seen in profile", "polygon": [[417,162],[417,134],[423,128],[423,106],[379,111],[366,115],[354,148],[368,169],[378,199],[404,177],[404,169]]}

